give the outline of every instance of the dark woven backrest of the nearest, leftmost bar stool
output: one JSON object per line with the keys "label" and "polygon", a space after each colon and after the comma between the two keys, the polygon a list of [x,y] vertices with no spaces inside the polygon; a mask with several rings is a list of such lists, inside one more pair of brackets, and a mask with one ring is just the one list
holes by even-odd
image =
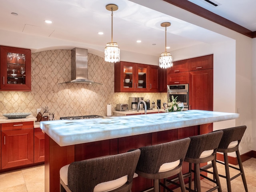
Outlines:
{"label": "dark woven backrest of the nearest, leftmost bar stool", "polygon": [[72,192],[93,192],[102,182],[128,175],[126,184],[132,185],[133,175],[140,157],[140,150],[72,162],[68,167],[68,188]]}

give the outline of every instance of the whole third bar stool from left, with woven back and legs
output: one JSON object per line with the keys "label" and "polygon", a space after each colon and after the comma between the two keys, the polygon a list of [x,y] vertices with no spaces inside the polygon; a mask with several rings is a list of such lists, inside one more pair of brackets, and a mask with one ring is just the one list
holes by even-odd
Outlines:
{"label": "whole third bar stool from left, with woven back and legs", "polygon": [[[223,131],[216,131],[190,137],[190,145],[184,160],[185,162],[189,162],[189,172],[183,175],[184,178],[189,178],[189,184],[187,188],[188,191],[201,192],[200,176],[202,176],[216,184],[214,188],[208,190],[207,192],[211,192],[216,189],[218,189],[218,192],[222,192],[215,160],[215,154],[222,138],[222,134]],[[212,162],[215,180],[200,174],[200,163],[206,163],[209,161]],[[194,165],[194,170],[192,169],[192,165]],[[191,189],[192,173],[194,173],[194,190]]]}

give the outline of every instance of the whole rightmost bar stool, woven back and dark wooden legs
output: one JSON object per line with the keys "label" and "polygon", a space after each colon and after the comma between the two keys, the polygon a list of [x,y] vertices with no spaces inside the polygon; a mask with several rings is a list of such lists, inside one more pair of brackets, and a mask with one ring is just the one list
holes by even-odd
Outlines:
{"label": "whole rightmost bar stool, woven back and dark wooden legs", "polygon": [[[222,139],[218,146],[217,152],[223,153],[224,163],[221,161],[218,161],[218,160],[216,160],[216,162],[225,165],[226,176],[221,175],[221,174],[219,174],[219,176],[226,179],[228,192],[231,192],[231,180],[237,178],[238,176],[242,176],[242,181],[244,183],[244,189],[246,192],[248,192],[246,178],[244,175],[244,169],[243,169],[243,165],[242,165],[242,160],[241,160],[239,149],[238,149],[245,130],[246,130],[246,126],[236,126],[236,127],[232,127],[232,128],[222,129],[223,136],[222,136]],[[239,168],[236,168],[236,167],[228,164],[228,153],[230,153],[230,152],[236,152],[236,157],[237,157]],[[205,170],[210,167],[211,167],[211,165],[208,165],[208,166],[202,167],[202,169]],[[238,173],[235,176],[233,176],[232,178],[230,178],[229,168],[239,170],[240,173]],[[212,172],[210,172],[210,173],[212,173]]]}

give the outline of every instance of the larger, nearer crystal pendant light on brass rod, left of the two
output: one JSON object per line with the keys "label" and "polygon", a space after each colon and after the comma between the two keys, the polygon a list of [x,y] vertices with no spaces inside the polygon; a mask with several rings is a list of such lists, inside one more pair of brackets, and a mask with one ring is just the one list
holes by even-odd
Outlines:
{"label": "larger, nearer crystal pendant light on brass rod, left of the two", "polygon": [[120,60],[120,48],[117,42],[113,42],[113,11],[118,10],[118,6],[115,4],[106,5],[106,9],[111,11],[111,42],[107,43],[105,47],[105,61],[106,62],[119,62]]}

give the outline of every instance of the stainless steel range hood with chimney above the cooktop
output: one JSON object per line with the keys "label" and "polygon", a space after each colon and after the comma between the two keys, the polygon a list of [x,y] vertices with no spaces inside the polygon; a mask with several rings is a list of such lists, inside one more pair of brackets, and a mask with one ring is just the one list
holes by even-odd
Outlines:
{"label": "stainless steel range hood with chimney above the cooktop", "polygon": [[71,50],[71,81],[64,82],[64,83],[101,84],[101,83],[94,82],[92,80],[88,80],[88,50],[87,49],[74,48]]}

